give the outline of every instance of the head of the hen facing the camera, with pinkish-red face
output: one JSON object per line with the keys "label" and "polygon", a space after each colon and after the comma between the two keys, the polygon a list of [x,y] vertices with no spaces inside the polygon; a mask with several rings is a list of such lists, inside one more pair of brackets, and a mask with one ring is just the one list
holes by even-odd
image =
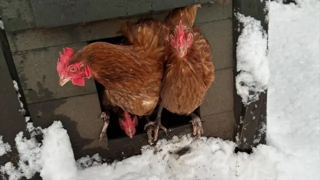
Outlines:
{"label": "head of the hen facing the camera, with pinkish-red face", "polygon": [[187,48],[190,47],[193,42],[191,28],[183,24],[182,20],[180,20],[179,24],[171,29],[169,39],[170,44],[176,49],[176,53],[180,57],[183,57],[187,52]]}

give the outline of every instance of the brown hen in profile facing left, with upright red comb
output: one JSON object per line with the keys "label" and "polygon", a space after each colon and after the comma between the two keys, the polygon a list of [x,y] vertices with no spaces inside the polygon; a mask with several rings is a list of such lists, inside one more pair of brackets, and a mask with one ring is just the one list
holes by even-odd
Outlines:
{"label": "brown hen in profile facing left, with upright red comb", "polygon": [[124,24],[121,32],[139,43],[123,46],[94,42],[74,55],[71,48],[66,48],[57,62],[59,82],[61,86],[69,80],[84,85],[84,78],[93,77],[105,87],[112,106],[147,115],[159,99],[165,49],[164,38],[160,38],[163,30],[156,23],[140,21],[139,25]]}

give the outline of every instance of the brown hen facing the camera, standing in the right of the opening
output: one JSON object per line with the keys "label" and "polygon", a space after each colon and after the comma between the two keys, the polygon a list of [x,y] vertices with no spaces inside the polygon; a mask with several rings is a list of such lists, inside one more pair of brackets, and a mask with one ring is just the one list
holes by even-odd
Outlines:
{"label": "brown hen facing the camera, standing in the right of the opening", "polygon": [[[197,137],[203,134],[201,120],[193,111],[202,103],[206,90],[214,81],[214,67],[208,41],[200,35],[198,28],[193,30],[190,26],[193,25],[197,7],[199,5],[178,8],[173,10],[176,13],[169,14],[171,19],[166,19],[170,24],[177,19],[179,21],[175,22],[169,33],[167,62],[156,120],[148,122],[145,128],[162,128],[166,131],[161,125],[161,112],[164,107],[173,113],[191,114],[193,134]],[[177,13],[183,11],[191,15],[183,16],[185,13]],[[172,17],[172,14],[175,16]],[[157,131],[154,130],[154,140],[156,139]]]}

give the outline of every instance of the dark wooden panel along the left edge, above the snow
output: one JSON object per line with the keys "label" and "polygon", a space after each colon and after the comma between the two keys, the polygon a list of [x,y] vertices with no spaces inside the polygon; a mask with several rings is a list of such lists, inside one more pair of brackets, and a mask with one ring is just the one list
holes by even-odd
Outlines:
{"label": "dark wooden panel along the left edge, above the snow", "polygon": [[[18,82],[20,88],[21,97],[20,100],[25,103],[24,95],[19,84],[17,72],[12,60],[9,44],[5,36],[3,29],[0,29],[0,135],[3,135],[2,140],[8,142],[11,146],[11,151],[0,157],[0,165],[4,165],[6,162],[12,162],[14,166],[18,164],[18,151],[15,147],[15,136],[20,131],[23,131],[24,137],[30,138],[29,133],[26,131],[26,122],[23,115],[19,112],[20,102],[18,101],[16,91],[13,87],[12,78]],[[27,107],[26,114],[28,115]],[[5,175],[5,177],[7,177]],[[39,174],[35,174],[31,180],[41,179]]]}

